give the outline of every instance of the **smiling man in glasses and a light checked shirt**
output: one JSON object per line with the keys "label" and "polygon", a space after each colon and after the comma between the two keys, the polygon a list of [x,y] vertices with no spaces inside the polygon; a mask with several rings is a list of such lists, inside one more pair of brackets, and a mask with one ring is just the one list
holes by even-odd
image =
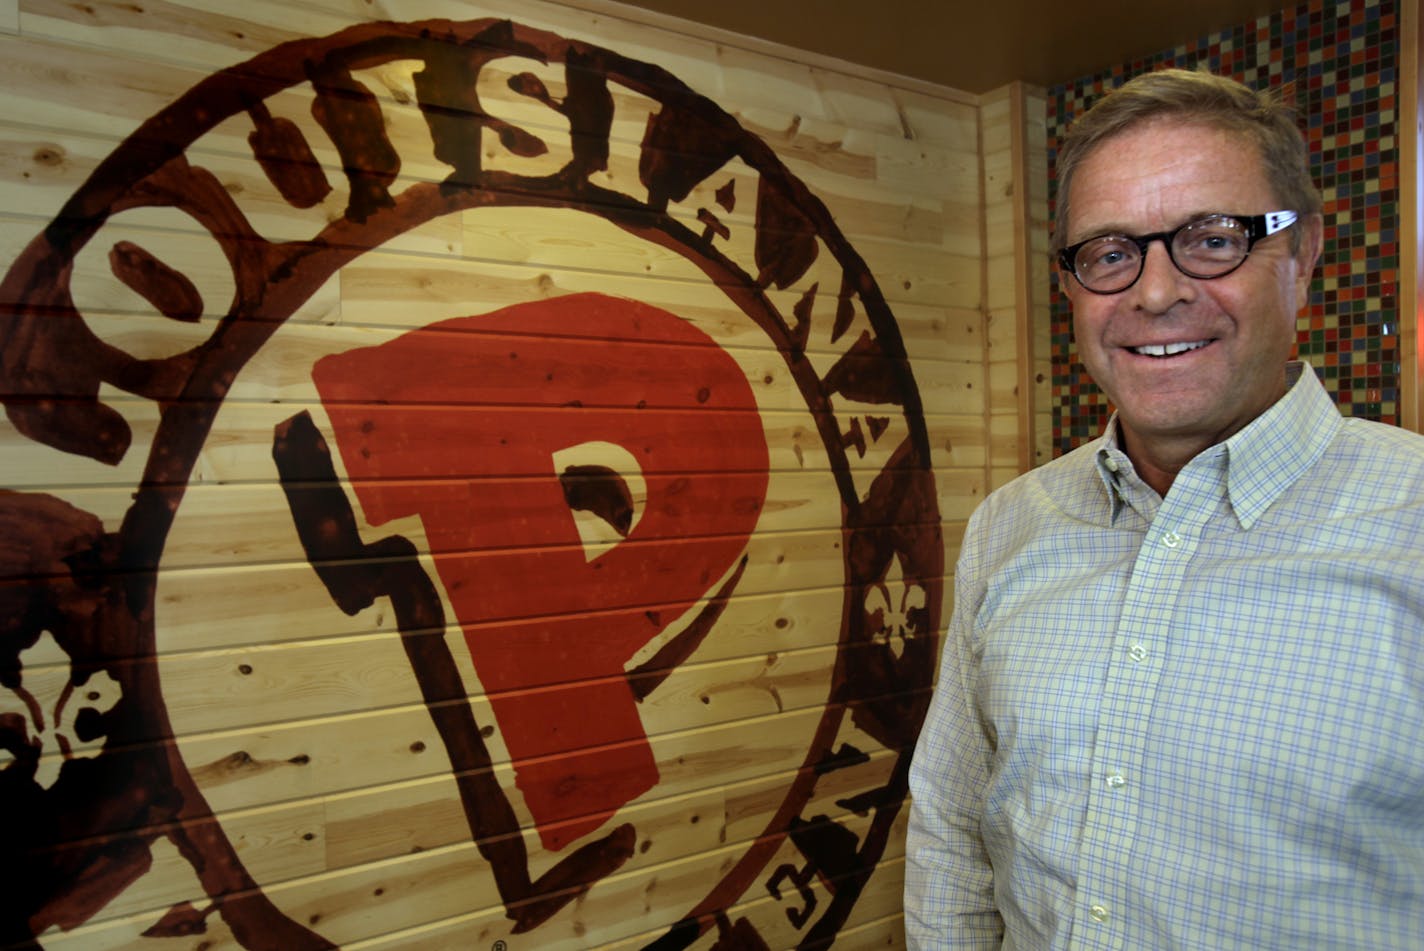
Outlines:
{"label": "smiling man in glasses and a light checked shirt", "polygon": [[1139,77],[1058,158],[1116,407],[994,493],[910,770],[911,948],[1424,948],[1424,438],[1290,363],[1289,111]]}

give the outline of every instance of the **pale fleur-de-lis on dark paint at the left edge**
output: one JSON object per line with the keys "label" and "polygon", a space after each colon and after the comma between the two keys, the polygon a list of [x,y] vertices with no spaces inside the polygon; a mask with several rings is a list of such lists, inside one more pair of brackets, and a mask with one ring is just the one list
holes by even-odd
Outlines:
{"label": "pale fleur-de-lis on dark paint at the left edge", "polygon": [[[124,693],[118,681],[107,671],[98,671],[83,685],[77,685],[73,666],[36,662],[38,658],[54,656],[56,652],[68,656],[48,631],[43,632],[30,649],[20,653],[20,683],[13,689],[0,688],[0,715],[19,715],[26,723],[26,743],[38,750],[34,782],[41,789],[54,784],[68,760],[98,756],[104,737],[81,740],[75,733],[75,723],[84,710],[107,713]],[[0,769],[14,766],[14,757],[9,759],[9,763],[0,759]]]}

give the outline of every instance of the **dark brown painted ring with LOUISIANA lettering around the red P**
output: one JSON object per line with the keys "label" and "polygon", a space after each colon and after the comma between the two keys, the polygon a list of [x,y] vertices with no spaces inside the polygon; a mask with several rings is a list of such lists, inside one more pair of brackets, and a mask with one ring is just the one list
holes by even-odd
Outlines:
{"label": "dark brown painted ring with LOUISIANA lettering around the red P", "polygon": [[[515,144],[521,134],[481,110],[473,83],[484,63],[508,56],[565,67],[565,98],[545,103],[568,118],[574,144],[572,158],[555,174],[527,177],[481,168],[478,144],[484,128]],[[389,191],[400,159],[384,138],[380,107],[352,75],[393,60],[423,64],[416,75],[417,105],[431,131],[436,158],[453,168],[443,181],[416,182],[399,194]],[[256,232],[211,172],[188,162],[185,152],[219,122],[248,114],[258,130],[249,140],[253,158],[283,198],[296,206],[320,201],[325,185],[315,159],[265,105],[272,95],[302,84],[315,90],[318,121],[342,157],[349,202],[340,218],[310,239],[273,243]],[[661,104],[641,144],[639,177],[648,189],[646,202],[591,179],[607,167],[611,84]],[[669,214],[669,204],[684,201],[732,158],[760,175],[756,273],[728,258],[713,243],[712,229],[698,229]],[[122,668],[115,676],[124,679],[124,698],[148,699],[144,705],[122,705],[127,709],[121,723],[110,733],[114,749],[107,747],[101,760],[117,763],[111,757],[124,745],[157,742],[168,750],[158,759],[138,757],[110,782],[167,780],[177,790],[168,806],[152,800],[157,811],[150,816],[167,817],[174,827],[187,830],[179,848],[189,858],[231,858],[236,873],[199,877],[214,897],[244,890],[253,895],[245,900],[242,914],[224,910],[229,923],[246,923],[234,930],[239,940],[252,941],[248,947],[271,941],[283,948],[328,947],[323,938],[265,903],[174,752],[157,663],[134,662],[155,656],[155,572],[218,407],[246,362],[282,323],[366,251],[441,215],[511,205],[577,208],[696,265],[776,346],[815,420],[844,513],[843,614],[830,695],[800,770],[770,821],[706,897],[654,944],[686,947],[718,927],[718,918],[748,891],[782,841],[806,824],[800,813],[819,776],[859,753],[833,749],[849,713],[857,727],[894,750],[896,757],[881,789],[844,803],[871,816],[870,830],[853,854],[844,856],[829,907],[802,934],[803,947],[820,947],[844,924],[884,853],[906,797],[909,757],[937,655],[943,538],[928,436],[899,326],[864,261],[826,206],[732,115],[658,65],[508,21],[369,23],[282,44],[208,77],[114,149],[30,242],[0,285],[0,393],[20,433],[112,464],[128,451],[131,433],[124,417],[100,400],[100,386],[107,383],[161,407],[142,480],[121,528],[104,537],[88,530],[84,545],[90,557],[71,559],[73,577],[64,579],[70,588],[90,584],[93,589],[98,584],[108,606],[94,615],[93,624],[101,629],[81,632],[83,625],[74,621],[67,634],[57,636],[68,639],[74,656],[85,653],[97,666]],[[84,325],[68,286],[75,255],[104,222],[142,206],[177,208],[199,222],[222,249],[236,286],[232,309],[212,335],[164,359],[138,359],[98,339]],[[817,376],[806,359],[809,319],[780,313],[768,295],[768,289],[785,289],[802,278],[819,249],[833,255],[843,273],[842,286],[826,293],[839,293],[843,310],[857,302],[871,327],[824,376]],[[171,310],[169,316],[184,312],[184,279],[169,275],[151,296],[158,298],[159,309]],[[847,451],[863,454],[866,436],[859,429],[844,430],[833,394],[881,404],[887,414],[904,417],[907,436],[874,474],[869,491],[857,488],[847,457]],[[13,495],[6,501],[23,510],[38,505],[40,498]],[[867,597],[886,585],[891,571],[924,591],[923,604],[909,611],[917,636],[904,638],[896,649],[877,636],[879,615],[867,608]],[[21,641],[14,642],[20,646],[6,645],[6,656],[11,656],[11,648],[14,653],[23,649]],[[228,903],[238,911],[242,904]],[[248,913],[251,917],[244,918]],[[266,937],[259,937],[263,928]]]}

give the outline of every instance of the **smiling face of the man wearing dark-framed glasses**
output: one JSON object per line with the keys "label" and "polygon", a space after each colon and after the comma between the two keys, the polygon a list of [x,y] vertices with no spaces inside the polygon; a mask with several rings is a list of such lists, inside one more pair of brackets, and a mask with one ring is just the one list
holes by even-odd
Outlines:
{"label": "smiling face of the man wearing dark-framed glasses", "polygon": [[[1068,243],[1105,232],[1172,231],[1208,214],[1257,215],[1277,205],[1253,144],[1200,124],[1152,121],[1099,144],[1072,179]],[[1289,209],[1294,211],[1294,209]],[[1072,275],[1078,353],[1118,407],[1125,447],[1158,458],[1189,457],[1260,416],[1284,392],[1296,313],[1320,246],[1319,218],[1256,243],[1225,278],[1176,269],[1162,242],[1142,276],[1112,295]],[[1143,347],[1168,346],[1171,356]],[[1180,352],[1176,352],[1180,350]]]}

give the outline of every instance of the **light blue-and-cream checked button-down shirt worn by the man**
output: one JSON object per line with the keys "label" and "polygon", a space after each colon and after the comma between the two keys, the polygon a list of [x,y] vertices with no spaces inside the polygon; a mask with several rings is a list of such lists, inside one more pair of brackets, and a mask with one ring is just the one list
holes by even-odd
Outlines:
{"label": "light blue-and-cream checked button-down shirt worn by the man", "polygon": [[1424,948],[1424,437],[1303,373],[993,494],[910,787],[911,948]]}

